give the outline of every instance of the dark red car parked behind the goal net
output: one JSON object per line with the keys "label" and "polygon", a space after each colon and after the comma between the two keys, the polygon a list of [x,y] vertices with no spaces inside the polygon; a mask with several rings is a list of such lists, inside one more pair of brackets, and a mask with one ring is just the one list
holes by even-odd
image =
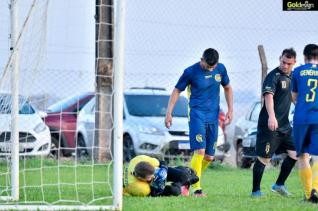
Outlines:
{"label": "dark red car parked behind the goal net", "polygon": [[94,97],[92,92],[74,95],[51,105],[47,109],[44,121],[50,128],[51,152],[54,156],[58,155],[60,149],[64,156],[70,156],[74,152],[77,115],[92,97]]}

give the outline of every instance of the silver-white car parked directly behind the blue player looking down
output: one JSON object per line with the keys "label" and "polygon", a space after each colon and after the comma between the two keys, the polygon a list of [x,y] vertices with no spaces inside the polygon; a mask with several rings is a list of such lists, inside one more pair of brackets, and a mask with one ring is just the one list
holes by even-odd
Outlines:
{"label": "silver-white car parked directly behind the blue player looking down", "polygon": [[[165,128],[164,118],[170,93],[163,89],[138,88],[124,93],[124,160],[136,154],[161,158],[189,156],[188,100],[180,96],[173,112],[173,124]],[[224,122],[224,113],[220,122]],[[223,121],[223,122],[222,122]],[[222,125],[222,124],[221,124]],[[223,124],[224,125],[224,124]],[[223,126],[222,125],[222,126]],[[92,153],[95,128],[95,98],[80,112],[77,120],[77,143],[84,153]],[[219,126],[216,157],[223,160],[229,150],[223,129]]]}

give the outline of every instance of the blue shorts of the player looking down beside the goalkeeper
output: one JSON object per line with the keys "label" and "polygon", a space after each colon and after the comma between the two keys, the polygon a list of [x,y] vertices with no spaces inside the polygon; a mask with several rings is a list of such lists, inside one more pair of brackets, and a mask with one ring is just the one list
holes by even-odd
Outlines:
{"label": "blue shorts of the player looking down beside the goalkeeper", "polygon": [[218,124],[191,118],[189,129],[191,150],[205,149],[205,154],[213,156],[218,138]]}

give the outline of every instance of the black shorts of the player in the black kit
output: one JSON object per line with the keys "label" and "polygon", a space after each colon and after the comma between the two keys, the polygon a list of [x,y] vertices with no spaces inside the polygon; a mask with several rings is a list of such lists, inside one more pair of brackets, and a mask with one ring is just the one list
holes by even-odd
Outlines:
{"label": "black shorts of the player in the black kit", "polygon": [[286,133],[258,128],[256,138],[256,154],[262,158],[271,158],[273,154],[281,154],[287,150],[295,151],[291,130]]}

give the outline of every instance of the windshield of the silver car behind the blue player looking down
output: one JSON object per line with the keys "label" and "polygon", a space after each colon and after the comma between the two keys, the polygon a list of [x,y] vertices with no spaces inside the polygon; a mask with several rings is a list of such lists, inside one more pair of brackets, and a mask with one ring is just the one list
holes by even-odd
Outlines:
{"label": "windshield of the silver car behind the blue player looking down", "polygon": [[[125,95],[125,100],[130,115],[163,117],[166,115],[169,97],[168,95]],[[172,115],[188,116],[188,100],[185,97],[179,97]]]}

